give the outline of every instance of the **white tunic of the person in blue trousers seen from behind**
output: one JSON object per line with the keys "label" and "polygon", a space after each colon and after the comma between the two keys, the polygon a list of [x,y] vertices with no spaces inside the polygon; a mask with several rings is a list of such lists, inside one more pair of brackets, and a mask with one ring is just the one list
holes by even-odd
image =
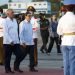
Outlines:
{"label": "white tunic of the person in blue trousers seen from behind", "polygon": [[72,12],[67,12],[60,18],[57,27],[57,33],[62,35],[62,45],[75,46],[75,35],[63,35],[72,32],[75,32],[75,15]]}

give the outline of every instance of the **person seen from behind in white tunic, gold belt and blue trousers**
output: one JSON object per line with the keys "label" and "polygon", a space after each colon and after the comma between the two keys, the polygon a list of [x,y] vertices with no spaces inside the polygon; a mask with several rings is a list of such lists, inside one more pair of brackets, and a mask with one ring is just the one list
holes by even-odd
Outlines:
{"label": "person seen from behind in white tunic, gold belt and blue trousers", "polygon": [[[74,1],[74,0],[73,0]],[[75,75],[75,15],[73,5],[66,5],[66,14],[59,20],[57,33],[62,36],[64,75]]]}

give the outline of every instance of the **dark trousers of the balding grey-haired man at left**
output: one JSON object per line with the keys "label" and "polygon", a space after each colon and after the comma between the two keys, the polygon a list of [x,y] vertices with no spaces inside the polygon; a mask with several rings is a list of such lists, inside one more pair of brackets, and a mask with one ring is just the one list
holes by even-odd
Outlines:
{"label": "dark trousers of the balding grey-haired man at left", "polygon": [[15,44],[13,46],[4,44],[5,49],[5,70],[10,71],[10,61],[12,53],[15,54],[16,59],[14,62],[14,69],[19,69],[20,62],[22,61],[22,52],[19,44]]}

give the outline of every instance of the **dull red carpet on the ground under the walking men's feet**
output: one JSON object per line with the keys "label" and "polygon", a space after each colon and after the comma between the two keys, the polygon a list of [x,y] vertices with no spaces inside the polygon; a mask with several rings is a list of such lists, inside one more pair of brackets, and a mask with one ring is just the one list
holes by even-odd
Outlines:
{"label": "dull red carpet on the ground under the walking men's feet", "polygon": [[28,69],[23,69],[24,73],[6,74],[4,68],[0,67],[0,75],[63,75],[63,70],[60,69],[39,69],[38,72],[29,72]]}

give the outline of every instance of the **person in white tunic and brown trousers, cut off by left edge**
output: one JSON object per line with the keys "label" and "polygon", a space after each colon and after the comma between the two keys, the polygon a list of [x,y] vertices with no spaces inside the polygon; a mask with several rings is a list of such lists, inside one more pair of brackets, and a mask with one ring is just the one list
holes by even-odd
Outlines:
{"label": "person in white tunic and brown trousers, cut off by left edge", "polygon": [[4,64],[4,50],[3,50],[3,9],[0,8],[0,65]]}

